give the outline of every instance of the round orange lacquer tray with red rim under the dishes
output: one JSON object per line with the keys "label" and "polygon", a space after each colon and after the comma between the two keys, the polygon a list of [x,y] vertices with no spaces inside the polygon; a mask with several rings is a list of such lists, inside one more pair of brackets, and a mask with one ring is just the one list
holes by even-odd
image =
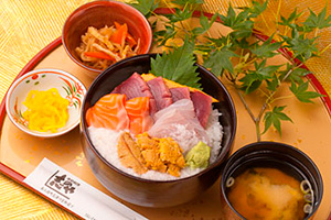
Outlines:
{"label": "round orange lacquer tray with red rim under the dishes", "polygon": [[[284,62],[284,57],[276,57],[274,63]],[[88,88],[93,78],[86,74],[87,70],[77,66],[66,55],[61,38],[55,40],[42,50],[18,75],[22,76],[29,70],[39,68],[57,68],[68,72],[79,78]],[[310,89],[327,92],[312,76]],[[237,95],[227,86],[237,110],[237,133],[232,152],[245,144],[256,141],[254,123],[241,103]],[[288,92],[284,90],[285,95]],[[259,106],[258,100],[248,100]],[[301,103],[296,99],[282,100],[281,105],[287,106],[287,112],[293,123],[282,123],[282,135],[279,138],[276,131],[269,131],[264,136],[265,141],[278,141],[293,145],[308,154],[319,167],[324,185],[322,202],[313,219],[329,219],[331,210],[331,101],[328,96],[316,99],[314,103]],[[0,107],[0,170],[23,186],[23,179],[31,174],[38,164],[47,157],[58,166],[65,168],[95,188],[111,195],[102,184],[98,183],[86,158],[82,152],[79,130],[53,139],[40,139],[21,132],[7,117],[4,99]],[[257,109],[256,109],[257,110]],[[124,202],[131,209],[149,219],[223,219],[220,201],[220,179],[205,193],[194,200],[172,208],[145,208]],[[46,198],[51,200],[50,198]],[[52,200],[51,200],[52,201]],[[52,201],[54,202],[54,201]]]}

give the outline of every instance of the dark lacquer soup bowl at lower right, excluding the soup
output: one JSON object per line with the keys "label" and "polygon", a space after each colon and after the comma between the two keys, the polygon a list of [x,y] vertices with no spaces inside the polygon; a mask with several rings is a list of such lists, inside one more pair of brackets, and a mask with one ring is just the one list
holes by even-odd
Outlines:
{"label": "dark lacquer soup bowl at lower right, excluding the soup", "polygon": [[271,167],[295,177],[299,182],[308,180],[313,191],[311,211],[303,219],[310,219],[319,208],[323,196],[321,174],[312,162],[300,150],[278,142],[256,142],[236,151],[226,162],[221,179],[221,204],[225,219],[245,219],[229,202],[229,178],[236,177],[250,167]]}

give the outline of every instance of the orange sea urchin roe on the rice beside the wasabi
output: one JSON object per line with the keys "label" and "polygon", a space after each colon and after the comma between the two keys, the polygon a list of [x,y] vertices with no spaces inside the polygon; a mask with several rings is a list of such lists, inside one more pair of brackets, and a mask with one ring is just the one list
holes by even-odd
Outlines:
{"label": "orange sea urchin roe on the rice beside the wasabi", "polygon": [[138,134],[137,141],[124,132],[117,144],[121,165],[132,168],[139,175],[152,169],[179,177],[185,166],[182,152],[180,145],[171,138],[151,138],[147,132]]}

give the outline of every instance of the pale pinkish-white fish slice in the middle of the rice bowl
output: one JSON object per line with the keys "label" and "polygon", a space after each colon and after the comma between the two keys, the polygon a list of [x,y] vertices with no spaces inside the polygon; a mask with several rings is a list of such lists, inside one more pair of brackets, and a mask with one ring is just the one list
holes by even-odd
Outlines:
{"label": "pale pinkish-white fish slice in the middle of the rice bowl", "polygon": [[185,154],[199,141],[209,144],[206,131],[200,124],[193,102],[190,99],[181,99],[154,114],[154,124],[148,131],[156,138],[170,136],[177,141]]}

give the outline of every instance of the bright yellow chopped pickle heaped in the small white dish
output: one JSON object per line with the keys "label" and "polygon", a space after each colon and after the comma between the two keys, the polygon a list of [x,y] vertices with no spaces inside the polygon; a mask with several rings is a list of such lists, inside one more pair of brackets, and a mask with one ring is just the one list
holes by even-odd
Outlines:
{"label": "bright yellow chopped pickle heaped in the small white dish", "polygon": [[62,98],[56,88],[31,90],[23,105],[28,108],[23,118],[31,130],[54,133],[68,120],[68,100]]}

